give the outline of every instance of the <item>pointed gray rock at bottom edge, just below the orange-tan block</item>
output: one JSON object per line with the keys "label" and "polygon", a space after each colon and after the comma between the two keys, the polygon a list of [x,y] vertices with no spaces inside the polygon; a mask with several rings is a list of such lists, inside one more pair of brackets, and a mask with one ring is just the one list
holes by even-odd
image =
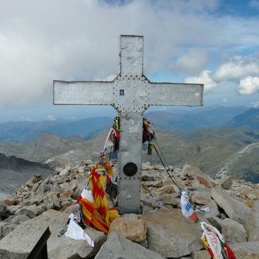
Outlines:
{"label": "pointed gray rock at bottom edge, just below the orange-tan block", "polygon": [[116,233],[108,234],[95,259],[162,259],[163,256],[150,251]]}

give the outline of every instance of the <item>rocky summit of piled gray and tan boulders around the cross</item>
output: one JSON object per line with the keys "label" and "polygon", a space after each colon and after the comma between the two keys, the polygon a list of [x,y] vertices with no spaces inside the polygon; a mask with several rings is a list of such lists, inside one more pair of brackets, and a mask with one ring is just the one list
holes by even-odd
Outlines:
{"label": "rocky summit of piled gray and tan boulders around the cross", "polygon": [[[142,164],[142,214],[115,219],[108,235],[84,229],[94,247],[60,234],[88,182],[92,164],[89,160],[76,166],[63,163],[53,175],[33,175],[13,195],[1,198],[1,259],[27,258],[47,226],[52,233],[47,243],[50,259],[210,258],[201,241],[200,224],[183,217],[180,190],[162,166],[150,163]],[[116,174],[117,162],[111,161],[111,166]],[[168,170],[193,204],[209,208],[205,214],[198,211],[198,217],[223,234],[237,259],[259,258],[259,184],[229,176],[212,178],[188,164]]]}

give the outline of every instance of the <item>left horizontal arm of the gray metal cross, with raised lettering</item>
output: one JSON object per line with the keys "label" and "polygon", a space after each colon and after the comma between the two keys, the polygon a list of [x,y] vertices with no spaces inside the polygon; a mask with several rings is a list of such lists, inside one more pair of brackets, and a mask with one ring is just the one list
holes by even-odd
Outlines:
{"label": "left horizontal arm of the gray metal cross, with raised lettering", "polygon": [[54,104],[113,104],[113,82],[54,81]]}

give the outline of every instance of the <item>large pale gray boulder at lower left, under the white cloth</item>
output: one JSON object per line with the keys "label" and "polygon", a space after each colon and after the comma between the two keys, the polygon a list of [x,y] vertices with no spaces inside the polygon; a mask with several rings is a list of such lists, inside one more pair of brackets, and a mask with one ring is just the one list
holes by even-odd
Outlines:
{"label": "large pale gray boulder at lower left, under the white cloth", "polygon": [[94,247],[89,246],[86,241],[74,240],[65,236],[58,237],[59,232],[66,225],[67,219],[67,214],[51,209],[34,219],[23,222],[1,239],[0,258],[27,258],[47,226],[50,227],[51,232],[47,241],[50,259],[92,258],[105,241],[105,234],[91,228],[85,229],[86,233],[93,239]]}

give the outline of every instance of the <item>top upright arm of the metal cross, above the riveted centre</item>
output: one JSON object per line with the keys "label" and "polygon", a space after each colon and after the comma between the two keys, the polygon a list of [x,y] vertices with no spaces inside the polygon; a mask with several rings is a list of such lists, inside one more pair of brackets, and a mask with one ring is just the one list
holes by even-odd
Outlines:
{"label": "top upright arm of the metal cross, above the riveted centre", "polygon": [[119,74],[143,74],[143,36],[120,35]]}

